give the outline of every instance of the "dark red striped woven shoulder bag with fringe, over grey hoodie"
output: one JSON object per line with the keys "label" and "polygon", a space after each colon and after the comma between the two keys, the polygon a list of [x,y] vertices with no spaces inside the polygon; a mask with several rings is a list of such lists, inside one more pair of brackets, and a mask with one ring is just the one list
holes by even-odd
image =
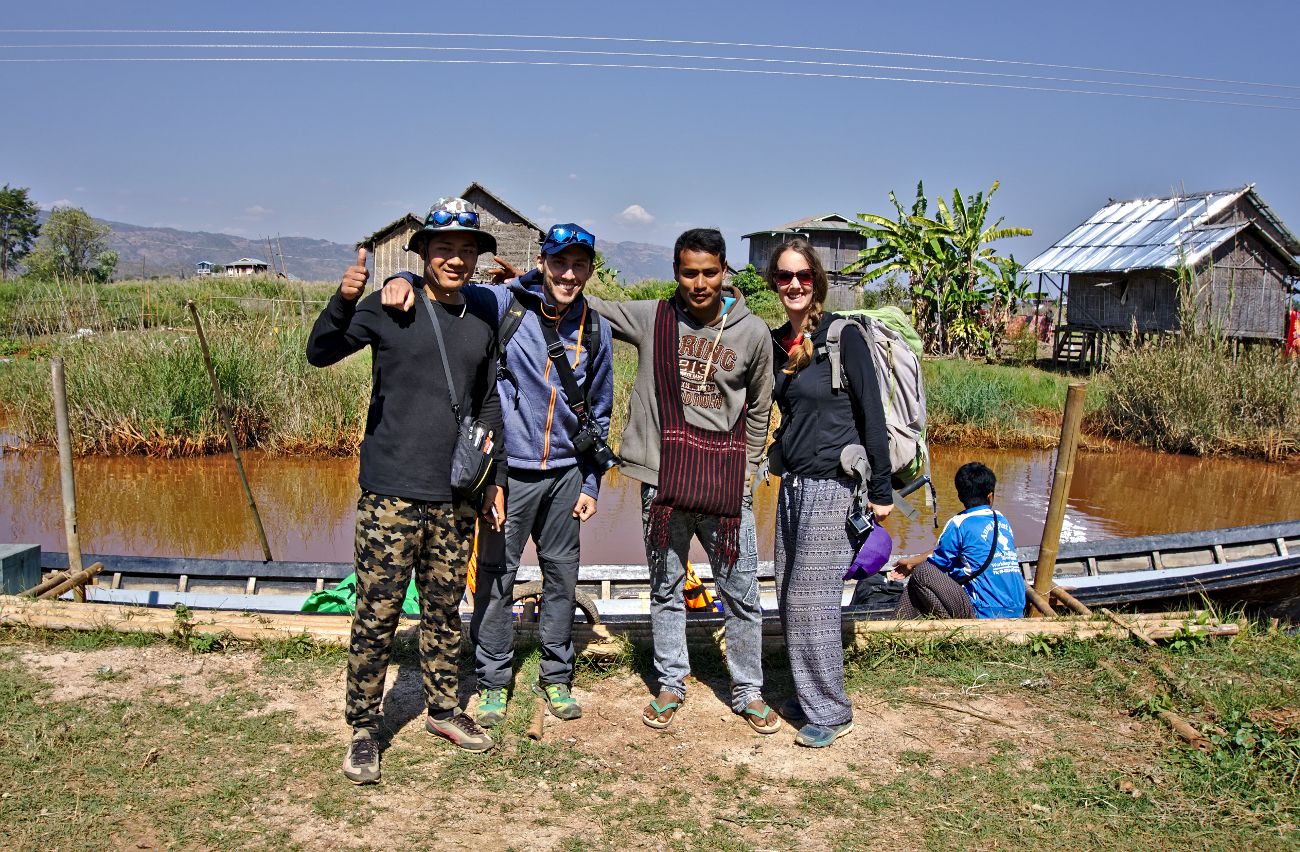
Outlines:
{"label": "dark red striped woven shoulder bag with fringe, over grey hoodie", "polygon": [[745,492],[745,412],[740,412],[729,432],[686,423],[677,349],[677,311],[672,302],[662,302],[654,324],[654,390],[662,441],[659,489],[650,505],[647,536],[654,546],[667,548],[673,511],[715,515],[718,558],[723,565],[734,565],[740,555],[740,506]]}

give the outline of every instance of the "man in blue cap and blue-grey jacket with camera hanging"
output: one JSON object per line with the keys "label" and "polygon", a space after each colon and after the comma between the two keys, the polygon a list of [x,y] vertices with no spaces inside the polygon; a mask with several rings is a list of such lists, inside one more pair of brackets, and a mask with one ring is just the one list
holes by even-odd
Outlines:
{"label": "man in blue cap and blue-grey jacket with camera hanging", "polygon": [[[595,269],[595,237],[566,222],[542,241],[537,267],[506,286],[471,285],[498,321],[502,350],[497,389],[510,462],[504,535],[480,529],[474,614],[469,633],[478,672],[476,718],[506,718],[512,679],[515,578],[532,537],[542,570],[540,682],[556,718],[576,719],[572,695],[573,596],[582,522],[595,514],[601,476],[618,459],[606,445],[614,407],[612,341],[582,297]],[[410,273],[390,278],[384,303],[413,304]]]}

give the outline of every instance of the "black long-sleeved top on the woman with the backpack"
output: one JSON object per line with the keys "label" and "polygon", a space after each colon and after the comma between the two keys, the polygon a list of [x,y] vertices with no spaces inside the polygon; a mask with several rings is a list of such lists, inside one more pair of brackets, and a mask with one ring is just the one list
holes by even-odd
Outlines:
{"label": "black long-sleeved top on the woman with the backpack", "polygon": [[[826,346],[826,334],[833,319],[833,313],[823,315],[812,333],[815,349]],[[826,355],[814,358],[811,364],[793,376],[783,372],[789,355],[781,341],[789,333],[789,323],[772,332],[772,368],[776,372],[772,398],[781,410],[779,441],[785,470],[810,479],[841,477],[845,473],[840,470],[840,450],[861,444],[871,463],[868,498],[880,506],[892,503],[885,412],[866,339],[850,330],[840,336],[840,364],[849,388],[832,392],[831,360]]]}

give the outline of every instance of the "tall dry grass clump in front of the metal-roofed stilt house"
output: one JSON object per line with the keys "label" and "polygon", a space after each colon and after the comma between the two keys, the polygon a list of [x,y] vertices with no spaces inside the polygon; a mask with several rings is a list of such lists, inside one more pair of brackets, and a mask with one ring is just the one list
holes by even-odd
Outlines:
{"label": "tall dry grass clump in front of the metal-roofed stilt house", "polygon": [[1300,455],[1300,360],[1273,347],[1232,356],[1225,342],[1184,337],[1118,353],[1095,424],[1169,453]]}

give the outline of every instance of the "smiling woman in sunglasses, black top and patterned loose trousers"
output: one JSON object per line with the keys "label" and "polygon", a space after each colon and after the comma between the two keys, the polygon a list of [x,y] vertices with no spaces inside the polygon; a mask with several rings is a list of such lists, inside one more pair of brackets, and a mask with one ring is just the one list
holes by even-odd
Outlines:
{"label": "smiling woman in sunglasses, black top and patterned loose trousers", "polygon": [[[772,332],[781,427],[772,446],[781,472],[776,509],[776,592],[796,697],[781,715],[802,725],[796,743],[831,745],[853,730],[844,688],[840,606],[844,572],[862,539],[848,526],[854,480],[840,470],[845,446],[862,445],[871,464],[867,503],[876,520],[893,510],[885,415],[871,351],[844,334],[846,388],[832,390],[826,336],[828,281],[809,241],[796,237],[772,254],[767,282],[789,321]],[[819,354],[820,353],[820,354]]]}

